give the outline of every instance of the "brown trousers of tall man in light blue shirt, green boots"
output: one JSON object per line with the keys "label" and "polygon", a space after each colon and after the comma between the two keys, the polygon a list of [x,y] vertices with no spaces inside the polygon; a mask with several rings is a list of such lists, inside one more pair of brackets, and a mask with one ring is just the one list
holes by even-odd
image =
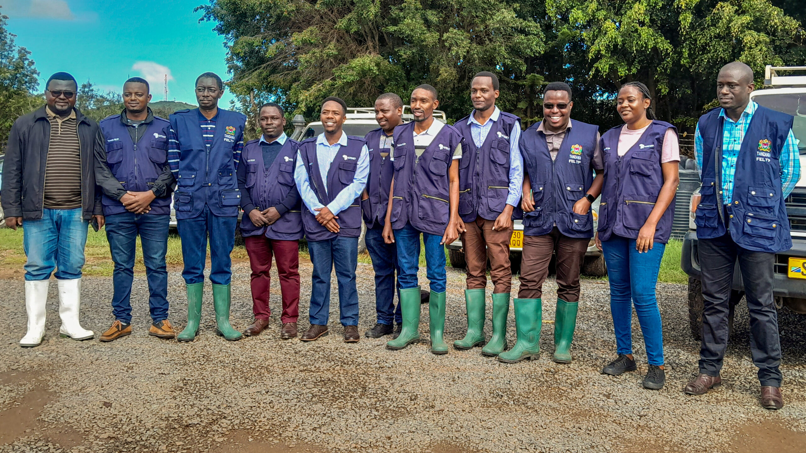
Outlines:
{"label": "brown trousers of tall man in light blue shirt, green boots", "polygon": [[493,231],[494,220],[476,217],[464,224],[462,233],[464,260],[467,262],[467,289],[487,287],[487,259],[490,259],[490,278],[493,293],[509,293],[512,289],[512,268],[509,267],[509,230]]}

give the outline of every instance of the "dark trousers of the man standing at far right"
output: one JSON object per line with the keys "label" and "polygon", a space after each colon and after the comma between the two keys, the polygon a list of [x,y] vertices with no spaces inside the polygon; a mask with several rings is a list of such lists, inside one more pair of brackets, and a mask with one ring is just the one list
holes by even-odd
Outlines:
{"label": "dark trousers of the man standing at far right", "polygon": [[733,242],[729,234],[700,239],[700,268],[705,308],[703,310],[700,372],[719,376],[728,345],[728,313],[733,266],[739,261],[750,310],[750,355],[758,367],[762,385],[781,386],[781,344],[778,312],[772,295],[775,253],[749,251]]}

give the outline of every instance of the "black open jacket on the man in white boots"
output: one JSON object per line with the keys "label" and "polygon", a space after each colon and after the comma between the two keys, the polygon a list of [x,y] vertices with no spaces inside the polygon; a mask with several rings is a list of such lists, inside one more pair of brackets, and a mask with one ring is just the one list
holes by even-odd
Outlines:
{"label": "black open jacket on the man in white boots", "polygon": [[[102,215],[101,190],[95,185],[95,149],[104,146],[98,123],[76,109],[78,139],[81,143],[81,209],[84,219]],[[2,172],[2,203],[6,217],[23,220],[42,218],[45,167],[48,164],[50,121],[45,107],[23,115],[14,122],[6,146]]]}

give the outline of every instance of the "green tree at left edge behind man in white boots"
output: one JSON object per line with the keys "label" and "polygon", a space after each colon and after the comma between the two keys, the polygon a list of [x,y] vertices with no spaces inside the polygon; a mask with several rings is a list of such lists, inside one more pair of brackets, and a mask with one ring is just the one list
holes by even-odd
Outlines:
{"label": "green tree at left edge behind man in white boots", "polygon": [[11,125],[20,115],[41,105],[31,96],[39,82],[31,52],[15,44],[16,35],[6,30],[8,16],[0,14],[0,149],[6,148]]}

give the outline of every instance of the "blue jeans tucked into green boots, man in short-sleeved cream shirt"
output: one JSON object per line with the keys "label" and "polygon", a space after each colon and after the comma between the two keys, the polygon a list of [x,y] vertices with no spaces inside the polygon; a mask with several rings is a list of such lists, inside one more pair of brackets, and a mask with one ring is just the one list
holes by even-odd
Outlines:
{"label": "blue jeans tucked into green boots, man in short-sleeved cream shirt", "polygon": [[[395,230],[395,243],[397,244],[397,264],[400,273],[397,280],[401,289],[417,288],[417,272],[420,269],[420,234],[416,228],[406,223],[400,230]],[[442,236],[422,233],[422,242],[426,247],[426,276],[434,293],[445,292],[445,247],[442,246]]]}

